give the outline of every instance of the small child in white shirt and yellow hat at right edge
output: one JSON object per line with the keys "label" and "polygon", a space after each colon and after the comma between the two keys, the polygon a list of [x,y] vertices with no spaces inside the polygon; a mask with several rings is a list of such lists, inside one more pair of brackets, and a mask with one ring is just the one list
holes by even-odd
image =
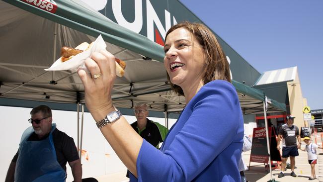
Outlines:
{"label": "small child in white shirt and yellow hat at right edge", "polygon": [[306,147],[305,149],[301,149],[301,150],[307,152],[309,164],[311,165],[311,169],[312,169],[312,176],[309,178],[309,180],[315,180],[316,179],[315,165],[317,164],[317,159],[318,159],[318,156],[316,154],[316,149],[317,148],[323,149],[323,147],[320,147],[317,144],[312,143],[310,137],[304,137],[303,141],[306,143]]}

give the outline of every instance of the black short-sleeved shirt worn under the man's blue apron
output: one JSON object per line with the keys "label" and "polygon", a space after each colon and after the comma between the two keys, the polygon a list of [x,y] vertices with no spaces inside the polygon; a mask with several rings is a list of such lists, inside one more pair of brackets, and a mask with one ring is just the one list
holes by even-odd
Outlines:
{"label": "black short-sleeved shirt worn under the man's blue apron", "polygon": [[[33,132],[28,138],[28,141],[40,141],[46,139],[48,136],[49,134],[39,139],[36,133]],[[72,137],[69,137],[66,133],[55,128],[55,130],[53,131],[53,142],[56,150],[57,161],[66,171],[67,162],[73,162],[79,159],[78,151],[75,146],[74,140]],[[17,162],[17,159],[18,152],[16,153],[16,155],[14,155],[11,162],[15,163]]]}

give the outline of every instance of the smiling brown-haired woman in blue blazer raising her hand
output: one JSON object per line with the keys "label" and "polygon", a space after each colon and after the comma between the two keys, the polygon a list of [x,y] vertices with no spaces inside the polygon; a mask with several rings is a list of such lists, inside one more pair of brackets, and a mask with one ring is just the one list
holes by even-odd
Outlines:
{"label": "smiling brown-haired woman in blue blazer raising her hand", "polygon": [[[186,107],[161,150],[143,140],[113,106],[115,58],[93,53],[79,70],[85,103],[135,182],[240,182],[243,118],[226,56],[203,24],[183,22],[165,36],[164,66]],[[93,77],[94,76],[94,77]],[[92,77],[92,78],[91,78]]]}

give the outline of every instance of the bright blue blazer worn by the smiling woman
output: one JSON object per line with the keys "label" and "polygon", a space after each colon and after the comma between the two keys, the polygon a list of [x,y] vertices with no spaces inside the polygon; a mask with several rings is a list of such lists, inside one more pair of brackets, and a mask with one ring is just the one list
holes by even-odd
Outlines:
{"label": "bright blue blazer worn by the smiling woman", "polygon": [[131,182],[240,182],[243,117],[237,91],[204,85],[169,130],[161,150],[144,140]]}

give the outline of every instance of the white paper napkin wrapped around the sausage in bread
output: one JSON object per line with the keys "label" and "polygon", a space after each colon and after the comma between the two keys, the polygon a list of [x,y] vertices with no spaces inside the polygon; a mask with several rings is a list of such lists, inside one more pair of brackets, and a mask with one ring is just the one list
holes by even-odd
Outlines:
{"label": "white paper napkin wrapped around the sausage in bread", "polygon": [[71,70],[77,71],[79,68],[87,71],[84,61],[87,58],[90,58],[93,52],[98,52],[100,50],[105,50],[106,44],[101,35],[99,35],[94,41],[92,47],[89,50],[83,51],[80,54],[77,54],[68,61],[62,62],[61,58],[55,61],[55,63],[45,71],[59,71],[59,70]]}

